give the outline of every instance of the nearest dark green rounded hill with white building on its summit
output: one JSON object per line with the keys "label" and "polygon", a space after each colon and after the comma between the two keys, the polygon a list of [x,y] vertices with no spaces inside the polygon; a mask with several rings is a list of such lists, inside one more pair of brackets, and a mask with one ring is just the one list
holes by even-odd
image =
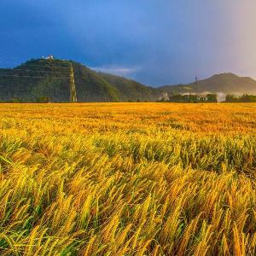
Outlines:
{"label": "nearest dark green rounded hill with white building on its summit", "polygon": [[34,102],[44,96],[53,102],[68,102],[69,63],[73,65],[79,102],[119,101],[119,91],[96,72],[61,60],[32,60],[14,69],[0,69],[0,99],[17,97]]}

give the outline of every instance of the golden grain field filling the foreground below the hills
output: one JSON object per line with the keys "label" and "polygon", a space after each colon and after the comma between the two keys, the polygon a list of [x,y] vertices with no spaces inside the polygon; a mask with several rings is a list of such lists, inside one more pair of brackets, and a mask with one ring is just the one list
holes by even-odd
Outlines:
{"label": "golden grain field filling the foreground below the hills", "polygon": [[256,104],[0,104],[1,255],[256,255]]}

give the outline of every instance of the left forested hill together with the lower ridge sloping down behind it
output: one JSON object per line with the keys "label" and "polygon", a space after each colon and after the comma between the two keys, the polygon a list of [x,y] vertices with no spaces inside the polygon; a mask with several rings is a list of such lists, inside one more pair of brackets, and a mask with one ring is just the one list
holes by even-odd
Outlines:
{"label": "left forested hill together with the lower ridge sloping down behind it", "polygon": [[74,69],[79,102],[155,101],[160,91],[135,81],[97,73],[74,61],[32,60],[13,69],[0,69],[0,101],[69,101],[69,65]]}

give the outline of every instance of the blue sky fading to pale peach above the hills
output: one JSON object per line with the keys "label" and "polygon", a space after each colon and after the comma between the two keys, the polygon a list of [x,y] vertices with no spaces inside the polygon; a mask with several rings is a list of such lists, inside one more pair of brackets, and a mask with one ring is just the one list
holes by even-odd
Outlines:
{"label": "blue sky fading to pale peach above the hills", "polygon": [[0,67],[55,55],[151,85],[256,78],[255,0],[1,0]]}

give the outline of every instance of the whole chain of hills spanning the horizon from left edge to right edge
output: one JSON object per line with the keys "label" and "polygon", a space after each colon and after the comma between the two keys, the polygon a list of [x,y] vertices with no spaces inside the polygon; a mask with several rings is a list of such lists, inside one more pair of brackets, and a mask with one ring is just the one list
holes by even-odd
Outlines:
{"label": "whole chain of hills spanning the horizon from left edge to right edge", "polygon": [[0,69],[0,101],[14,98],[35,102],[48,97],[53,102],[69,100],[69,64],[74,69],[79,102],[154,102],[186,93],[256,94],[256,81],[222,73],[198,84],[165,85],[158,88],[108,73],[98,73],[74,61],[31,60],[12,69]]}

